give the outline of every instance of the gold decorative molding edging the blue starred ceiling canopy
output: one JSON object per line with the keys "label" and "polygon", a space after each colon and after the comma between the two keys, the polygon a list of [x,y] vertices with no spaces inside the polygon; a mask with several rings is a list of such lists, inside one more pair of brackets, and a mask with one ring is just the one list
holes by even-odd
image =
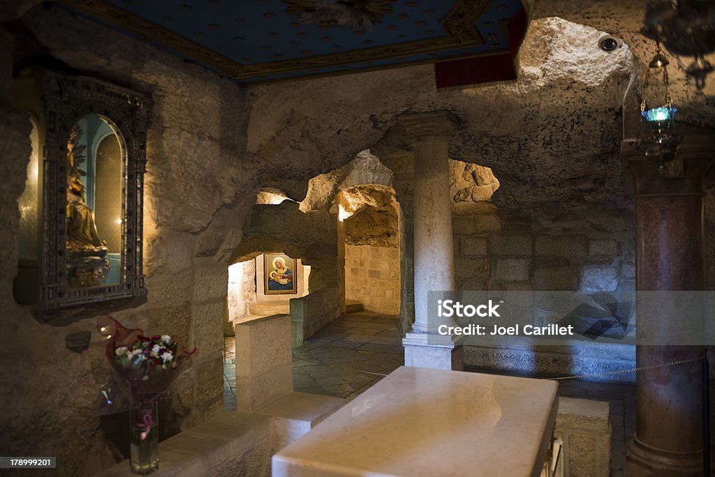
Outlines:
{"label": "gold decorative molding edging the blue starred ceiling canopy", "polygon": [[[452,9],[440,20],[440,24],[447,32],[447,36],[435,36],[433,38],[407,41],[401,44],[391,44],[385,46],[373,46],[365,49],[352,51],[342,51],[335,54],[325,54],[318,56],[306,56],[299,59],[287,59],[280,61],[270,61],[260,64],[241,64],[239,61],[223,56],[212,49],[191,41],[184,36],[165,29],[162,26],[143,19],[140,16],[129,13],[124,9],[109,4],[104,0],[59,0],[61,4],[69,6],[71,9],[82,12],[89,16],[94,16],[109,24],[132,31],[142,39],[153,41],[166,46],[169,49],[184,54],[208,66],[228,74],[232,79],[247,80],[255,83],[280,81],[282,79],[267,79],[261,81],[261,77],[271,74],[291,74],[300,71],[310,71],[334,66],[348,66],[358,63],[369,63],[370,61],[400,58],[402,56],[415,56],[420,54],[438,53],[453,49],[464,49],[473,46],[482,46],[484,40],[475,28],[475,22],[484,13],[490,4],[490,0],[455,0]],[[491,50],[475,56],[493,56],[508,50]],[[460,56],[461,58],[462,56]],[[464,56],[465,57],[465,56]],[[409,64],[424,64],[445,61],[447,59],[423,59],[394,65],[345,69],[343,71],[314,72],[305,75],[296,75],[285,79],[308,78],[314,76],[327,76],[332,74],[357,73],[360,71],[370,71],[374,69],[385,69],[389,67],[406,66]]]}

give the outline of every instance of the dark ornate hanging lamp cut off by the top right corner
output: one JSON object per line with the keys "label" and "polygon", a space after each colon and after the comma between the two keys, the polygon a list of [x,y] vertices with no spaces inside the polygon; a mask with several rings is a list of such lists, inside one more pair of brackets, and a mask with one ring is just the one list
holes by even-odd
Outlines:
{"label": "dark ornate hanging lamp cut off by the top right corner", "polygon": [[715,51],[715,1],[651,0],[646,7],[643,34],[679,56],[693,56],[686,74],[703,89],[713,65],[705,59]]}

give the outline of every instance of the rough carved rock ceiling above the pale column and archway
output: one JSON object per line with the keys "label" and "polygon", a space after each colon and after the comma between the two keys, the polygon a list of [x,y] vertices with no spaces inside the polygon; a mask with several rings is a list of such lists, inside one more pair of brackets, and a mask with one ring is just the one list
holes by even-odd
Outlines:
{"label": "rough carved rock ceiling above the pale column and archway", "polygon": [[432,69],[415,66],[257,88],[248,149],[268,160],[305,158],[296,175],[308,157],[324,158],[315,175],[365,147],[389,162],[410,149],[399,114],[448,109],[462,121],[450,157],[493,170],[496,205],[624,206],[620,110],[633,56],[626,45],[598,49],[602,34],[560,18],[533,21],[520,78],[506,84],[435,92]]}

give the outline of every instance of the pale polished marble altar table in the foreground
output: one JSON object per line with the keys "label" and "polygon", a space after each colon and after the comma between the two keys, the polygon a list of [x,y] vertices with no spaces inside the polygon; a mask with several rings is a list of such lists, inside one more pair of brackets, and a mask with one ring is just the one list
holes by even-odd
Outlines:
{"label": "pale polished marble altar table in the foreground", "polygon": [[538,476],[557,389],[403,366],[273,456],[272,476]]}

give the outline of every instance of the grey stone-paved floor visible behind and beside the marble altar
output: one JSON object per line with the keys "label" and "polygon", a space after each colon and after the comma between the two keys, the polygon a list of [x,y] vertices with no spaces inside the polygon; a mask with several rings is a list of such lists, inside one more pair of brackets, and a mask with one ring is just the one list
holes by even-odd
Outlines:
{"label": "grey stone-paved floor visible behind and beside the marble altar", "polygon": [[[404,363],[397,316],[349,313],[293,350],[293,388],[304,393],[354,398]],[[236,408],[234,338],[225,338],[224,408]],[[622,477],[626,443],[636,428],[636,386],[569,379],[559,394],[611,403],[611,476]]]}

